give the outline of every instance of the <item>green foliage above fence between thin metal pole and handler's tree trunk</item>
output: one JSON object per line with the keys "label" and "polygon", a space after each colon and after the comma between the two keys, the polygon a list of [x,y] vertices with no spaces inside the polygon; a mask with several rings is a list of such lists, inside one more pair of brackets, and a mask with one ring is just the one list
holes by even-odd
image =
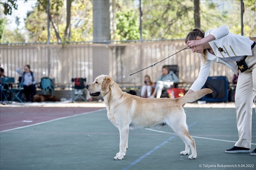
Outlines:
{"label": "green foliage above fence between thin metal pole and handler's tree trunk", "polygon": [[144,39],[179,39],[194,23],[194,5],[189,0],[143,1]]}

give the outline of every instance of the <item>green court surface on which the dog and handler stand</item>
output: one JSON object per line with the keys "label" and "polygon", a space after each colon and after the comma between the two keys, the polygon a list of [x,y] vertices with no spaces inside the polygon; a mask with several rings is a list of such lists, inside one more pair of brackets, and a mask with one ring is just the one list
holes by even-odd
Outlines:
{"label": "green court surface on which the dog and handler stand", "polygon": [[[255,170],[256,156],[225,153],[238,139],[235,108],[184,108],[197,158],[167,126],[129,133],[124,160],[107,111],[93,111],[0,133],[0,170]],[[156,113],[157,114],[157,113]],[[256,115],[252,116],[256,147]],[[191,151],[190,151],[191,152]]]}

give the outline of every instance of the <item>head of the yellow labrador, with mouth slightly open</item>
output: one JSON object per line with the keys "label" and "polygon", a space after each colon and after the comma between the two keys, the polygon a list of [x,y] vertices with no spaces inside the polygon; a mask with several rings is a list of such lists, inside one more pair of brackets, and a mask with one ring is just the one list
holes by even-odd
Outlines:
{"label": "head of the yellow labrador, with mouth slightly open", "polygon": [[85,87],[92,97],[105,96],[114,82],[113,78],[107,75],[100,75],[95,78],[94,82],[89,83]]}

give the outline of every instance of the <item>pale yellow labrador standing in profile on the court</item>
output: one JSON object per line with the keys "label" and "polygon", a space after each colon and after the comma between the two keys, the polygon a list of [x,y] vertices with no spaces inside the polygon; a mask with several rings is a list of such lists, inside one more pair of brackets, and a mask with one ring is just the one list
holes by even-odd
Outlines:
{"label": "pale yellow labrador standing in profile on the court", "polygon": [[122,160],[128,149],[129,130],[163,126],[167,124],[185,143],[181,155],[195,159],[195,140],[189,136],[186,114],[182,105],[193,102],[211,93],[210,89],[202,89],[180,98],[141,98],[122,92],[114,79],[107,75],[95,78],[93,83],[86,85],[90,96],[102,96],[108,111],[108,119],[119,129],[120,150],[114,157]]}

